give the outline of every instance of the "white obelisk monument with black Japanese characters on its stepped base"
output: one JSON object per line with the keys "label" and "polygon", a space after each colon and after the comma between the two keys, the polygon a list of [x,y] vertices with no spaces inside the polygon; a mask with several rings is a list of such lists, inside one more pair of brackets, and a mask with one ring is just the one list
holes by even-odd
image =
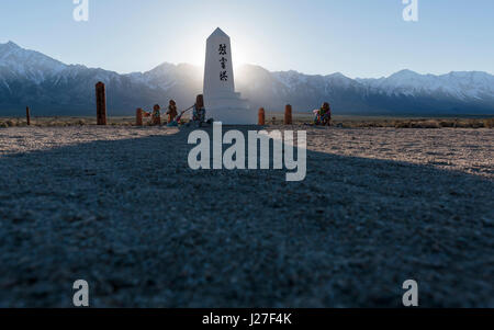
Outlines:
{"label": "white obelisk monument with black Japanese characters on its stepped base", "polygon": [[229,36],[220,27],[207,38],[204,66],[206,117],[224,125],[256,125],[257,114],[235,92]]}

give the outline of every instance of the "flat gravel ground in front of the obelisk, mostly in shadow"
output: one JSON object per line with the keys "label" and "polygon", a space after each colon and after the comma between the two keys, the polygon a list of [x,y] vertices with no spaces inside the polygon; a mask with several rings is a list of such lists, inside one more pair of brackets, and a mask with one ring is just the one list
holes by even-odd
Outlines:
{"label": "flat gravel ground in front of the obelisk, mostly in shadow", "polygon": [[188,130],[0,129],[0,307],[494,307],[494,130],[295,128],[294,183],[191,171]]}

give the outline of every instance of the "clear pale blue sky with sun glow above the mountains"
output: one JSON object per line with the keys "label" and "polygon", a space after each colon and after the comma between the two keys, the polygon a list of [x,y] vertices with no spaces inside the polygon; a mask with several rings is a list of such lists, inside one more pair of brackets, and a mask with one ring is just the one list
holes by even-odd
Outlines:
{"label": "clear pale blue sky with sun glow above the mountains", "polygon": [[381,77],[494,73],[493,0],[418,0],[405,22],[402,0],[0,0],[0,43],[13,41],[67,64],[117,72],[168,61],[203,66],[205,38],[232,37],[235,65],[305,73]]}

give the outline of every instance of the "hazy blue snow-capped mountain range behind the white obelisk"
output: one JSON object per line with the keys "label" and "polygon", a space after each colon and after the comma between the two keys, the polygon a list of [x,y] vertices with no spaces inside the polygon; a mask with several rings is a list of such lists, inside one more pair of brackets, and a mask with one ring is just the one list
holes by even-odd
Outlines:
{"label": "hazy blue snow-capped mountain range behind the white obelisk", "polygon": [[[21,114],[26,105],[36,115],[93,115],[98,81],[106,84],[110,114],[131,115],[136,107],[166,105],[170,99],[188,107],[201,93],[202,71],[162,64],[147,72],[120,75],[65,65],[12,42],[0,44],[0,116]],[[236,69],[236,86],[252,107],[272,112],[288,103],[296,112],[311,112],[329,101],[340,114],[494,114],[494,76],[478,71],[434,76],[403,70],[386,78],[350,79],[246,65]]]}

